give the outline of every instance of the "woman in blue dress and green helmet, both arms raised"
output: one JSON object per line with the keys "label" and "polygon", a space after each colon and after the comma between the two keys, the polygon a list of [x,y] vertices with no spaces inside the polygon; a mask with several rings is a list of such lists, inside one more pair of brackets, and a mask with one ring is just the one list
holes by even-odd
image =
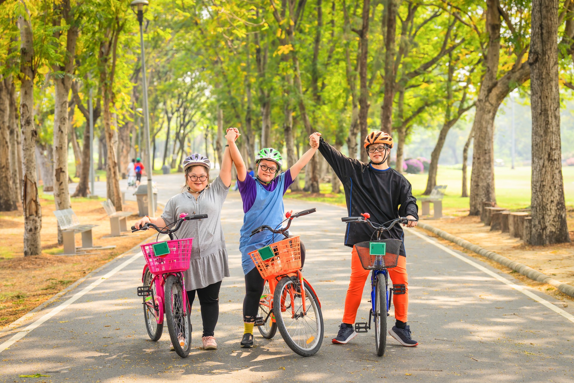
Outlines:
{"label": "woman in blue dress and green helmet, both arms raised", "polygon": [[[236,128],[236,134],[239,131]],[[317,151],[318,144],[312,146],[301,158],[290,167],[286,172],[281,173],[283,158],[281,153],[273,148],[264,148],[259,150],[255,156],[255,165],[257,167],[257,177],[253,178],[247,175],[245,163],[241,157],[239,149],[235,142],[228,139],[231,158],[237,169],[237,181],[239,184],[239,193],[243,200],[243,226],[241,227],[241,238],[239,239],[239,251],[241,251],[241,263],[243,273],[245,274],[245,298],[243,299],[243,339],[241,347],[253,347],[253,326],[257,318],[259,309],[259,300],[265,287],[265,280],[255,268],[255,264],[250,252],[261,249],[270,243],[277,242],[280,237],[270,231],[249,237],[251,231],[261,225],[269,225],[273,229],[281,226],[285,219],[283,205],[283,195],[293,179],[297,177],[301,169],[307,165],[313,154]],[[305,262],[305,246],[301,242],[301,267]]]}

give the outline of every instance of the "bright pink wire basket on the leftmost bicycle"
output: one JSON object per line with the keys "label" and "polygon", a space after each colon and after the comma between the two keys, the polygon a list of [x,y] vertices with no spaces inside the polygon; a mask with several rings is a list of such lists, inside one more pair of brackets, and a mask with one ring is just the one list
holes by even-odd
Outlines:
{"label": "bright pink wire basket on the leftmost bicycle", "polygon": [[167,241],[169,254],[158,257],[154,254],[152,246],[159,242],[141,245],[149,271],[152,274],[165,274],[181,272],[189,269],[192,242],[193,238],[173,239],[172,241]]}

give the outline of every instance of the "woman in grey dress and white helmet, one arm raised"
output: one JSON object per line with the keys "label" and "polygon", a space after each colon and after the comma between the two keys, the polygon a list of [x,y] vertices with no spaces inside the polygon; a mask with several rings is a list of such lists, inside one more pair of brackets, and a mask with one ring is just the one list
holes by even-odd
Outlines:
{"label": "woman in grey dress and white helmet, one arm raised", "polygon": [[[215,326],[219,318],[219,289],[223,277],[230,276],[225,237],[221,225],[223,201],[231,185],[231,156],[229,149],[223,153],[219,176],[210,181],[210,160],[202,154],[192,154],[182,164],[185,184],[181,193],[169,199],[161,217],[145,216],[135,223],[139,229],[146,222],[166,227],[175,222],[181,213],[207,214],[207,218],[191,220],[177,233],[181,238],[193,238],[189,269],[184,273],[185,290],[190,307],[195,295],[199,298],[205,350],[217,349]],[[173,350],[173,345],[170,345]]]}

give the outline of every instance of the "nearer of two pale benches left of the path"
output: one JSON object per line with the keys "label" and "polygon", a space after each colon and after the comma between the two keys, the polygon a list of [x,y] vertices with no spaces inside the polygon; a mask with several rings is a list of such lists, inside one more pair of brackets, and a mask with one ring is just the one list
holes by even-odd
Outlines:
{"label": "nearer of two pale benches left of the path", "polygon": [[[85,252],[77,252],[76,250],[93,250],[93,249],[113,249],[114,246],[94,246],[92,240],[92,227],[98,225],[82,225],[80,220],[77,219],[76,214],[71,208],[55,210],[54,215],[58,220],[58,226],[62,231],[64,242],[64,253],[61,255],[69,256],[73,254],[85,254]],[[76,249],[77,233],[82,233],[82,247]]]}

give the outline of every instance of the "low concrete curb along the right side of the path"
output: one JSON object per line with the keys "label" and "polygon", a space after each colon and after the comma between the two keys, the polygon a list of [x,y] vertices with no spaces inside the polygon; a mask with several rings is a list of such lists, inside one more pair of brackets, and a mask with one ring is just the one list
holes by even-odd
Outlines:
{"label": "low concrete curb along the right side of the path", "polygon": [[428,230],[431,233],[439,235],[439,237],[447,239],[447,241],[456,243],[457,245],[464,247],[464,249],[471,250],[471,252],[475,252],[476,254],[479,254],[480,256],[483,257],[487,257],[495,262],[498,262],[503,266],[506,266],[509,269],[513,269],[521,273],[525,277],[529,277],[530,279],[537,282],[552,285],[557,289],[559,289],[561,292],[565,293],[566,295],[574,297],[574,286],[572,285],[562,283],[546,274],[539,272],[538,270],[534,270],[533,268],[526,266],[525,264],[513,261],[510,258],[501,256],[498,253],[491,252],[490,250],[484,249],[484,247],[475,245],[472,242],[468,242],[466,239],[456,237],[455,235],[449,234],[444,230],[440,230],[434,226],[430,226],[427,223],[418,222],[417,226],[420,227],[421,229]]}

